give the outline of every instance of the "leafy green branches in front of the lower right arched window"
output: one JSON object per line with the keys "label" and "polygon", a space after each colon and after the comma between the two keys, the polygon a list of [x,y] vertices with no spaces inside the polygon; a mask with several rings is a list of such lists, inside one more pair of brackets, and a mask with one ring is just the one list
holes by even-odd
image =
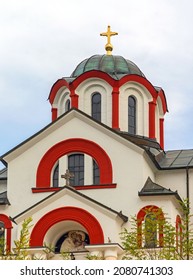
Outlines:
{"label": "leafy green branches in front of the lower right arched window", "polygon": [[[191,215],[187,203],[183,202],[183,215],[181,223],[173,226],[164,215],[161,217],[162,209],[149,215],[146,213],[145,222],[130,218],[130,229],[124,229],[121,240],[125,249],[123,259],[137,260],[185,260],[193,259],[193,227]],[[189,206],[189,205],[188,205]],[[149,216],[149,217],[148,217]],[[159,217],[159,219],[157,218]],[[140,226],[139,226],[140,225]],[[177,236],[178,235],[178,236]],[[176,245],[178,239],[178,246]]]}

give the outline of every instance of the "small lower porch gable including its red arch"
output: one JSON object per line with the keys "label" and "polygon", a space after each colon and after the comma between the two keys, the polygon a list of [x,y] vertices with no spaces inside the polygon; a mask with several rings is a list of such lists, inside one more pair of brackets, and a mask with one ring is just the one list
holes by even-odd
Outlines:
{"label": "small lower porch gable including its red arch", "polygon": [[[93,216],[94,213],[94,216]],[[43,246],[45,241],[55,242],[63,232],[84,230],[92,244],[104,243],[106,234],[126,222],[128,218],[121,212],[102,205],[101,203],[65,187],[48,196],[36,205],[13,218],[21,228],[24,219],[31,217],[33,226],[30,229],[30,245]],[[62,226],[61,226],[62,225]]]}

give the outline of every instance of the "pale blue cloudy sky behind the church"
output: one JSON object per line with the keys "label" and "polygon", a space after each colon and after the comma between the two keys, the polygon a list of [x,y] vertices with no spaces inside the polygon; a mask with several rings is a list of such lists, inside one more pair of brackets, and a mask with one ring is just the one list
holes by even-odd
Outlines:
{"label": "pale blue cloudy sky behind the church", "polygon": [[52,85],[105,54],[108,25],[113,54],[165,92],[165,150],[192,149],[192,12],[191,0],[0,0],[0,155],[50,123]]}

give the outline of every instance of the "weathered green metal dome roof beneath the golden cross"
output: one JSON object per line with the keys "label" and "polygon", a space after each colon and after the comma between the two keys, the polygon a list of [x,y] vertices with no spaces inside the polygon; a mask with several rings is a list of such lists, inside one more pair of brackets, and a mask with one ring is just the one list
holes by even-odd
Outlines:
{"label": "weathered green metal dome roof beneath the golden cross", "polygon": [[91,70],[103,71],[115,79],[129,74],[145,77],[136,64],[119,55],[93,55],[80,62],[71,77],[76,78]]}

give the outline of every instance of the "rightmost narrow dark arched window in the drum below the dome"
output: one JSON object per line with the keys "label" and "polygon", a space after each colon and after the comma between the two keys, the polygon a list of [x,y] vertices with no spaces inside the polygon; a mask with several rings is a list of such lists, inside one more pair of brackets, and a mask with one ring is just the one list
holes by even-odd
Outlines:
{"label": "rightmost narrow dark arched window in the drum below the dome", "polygon": [[136,99],[134,96],[128,98],[128,132],[136,134]]}

